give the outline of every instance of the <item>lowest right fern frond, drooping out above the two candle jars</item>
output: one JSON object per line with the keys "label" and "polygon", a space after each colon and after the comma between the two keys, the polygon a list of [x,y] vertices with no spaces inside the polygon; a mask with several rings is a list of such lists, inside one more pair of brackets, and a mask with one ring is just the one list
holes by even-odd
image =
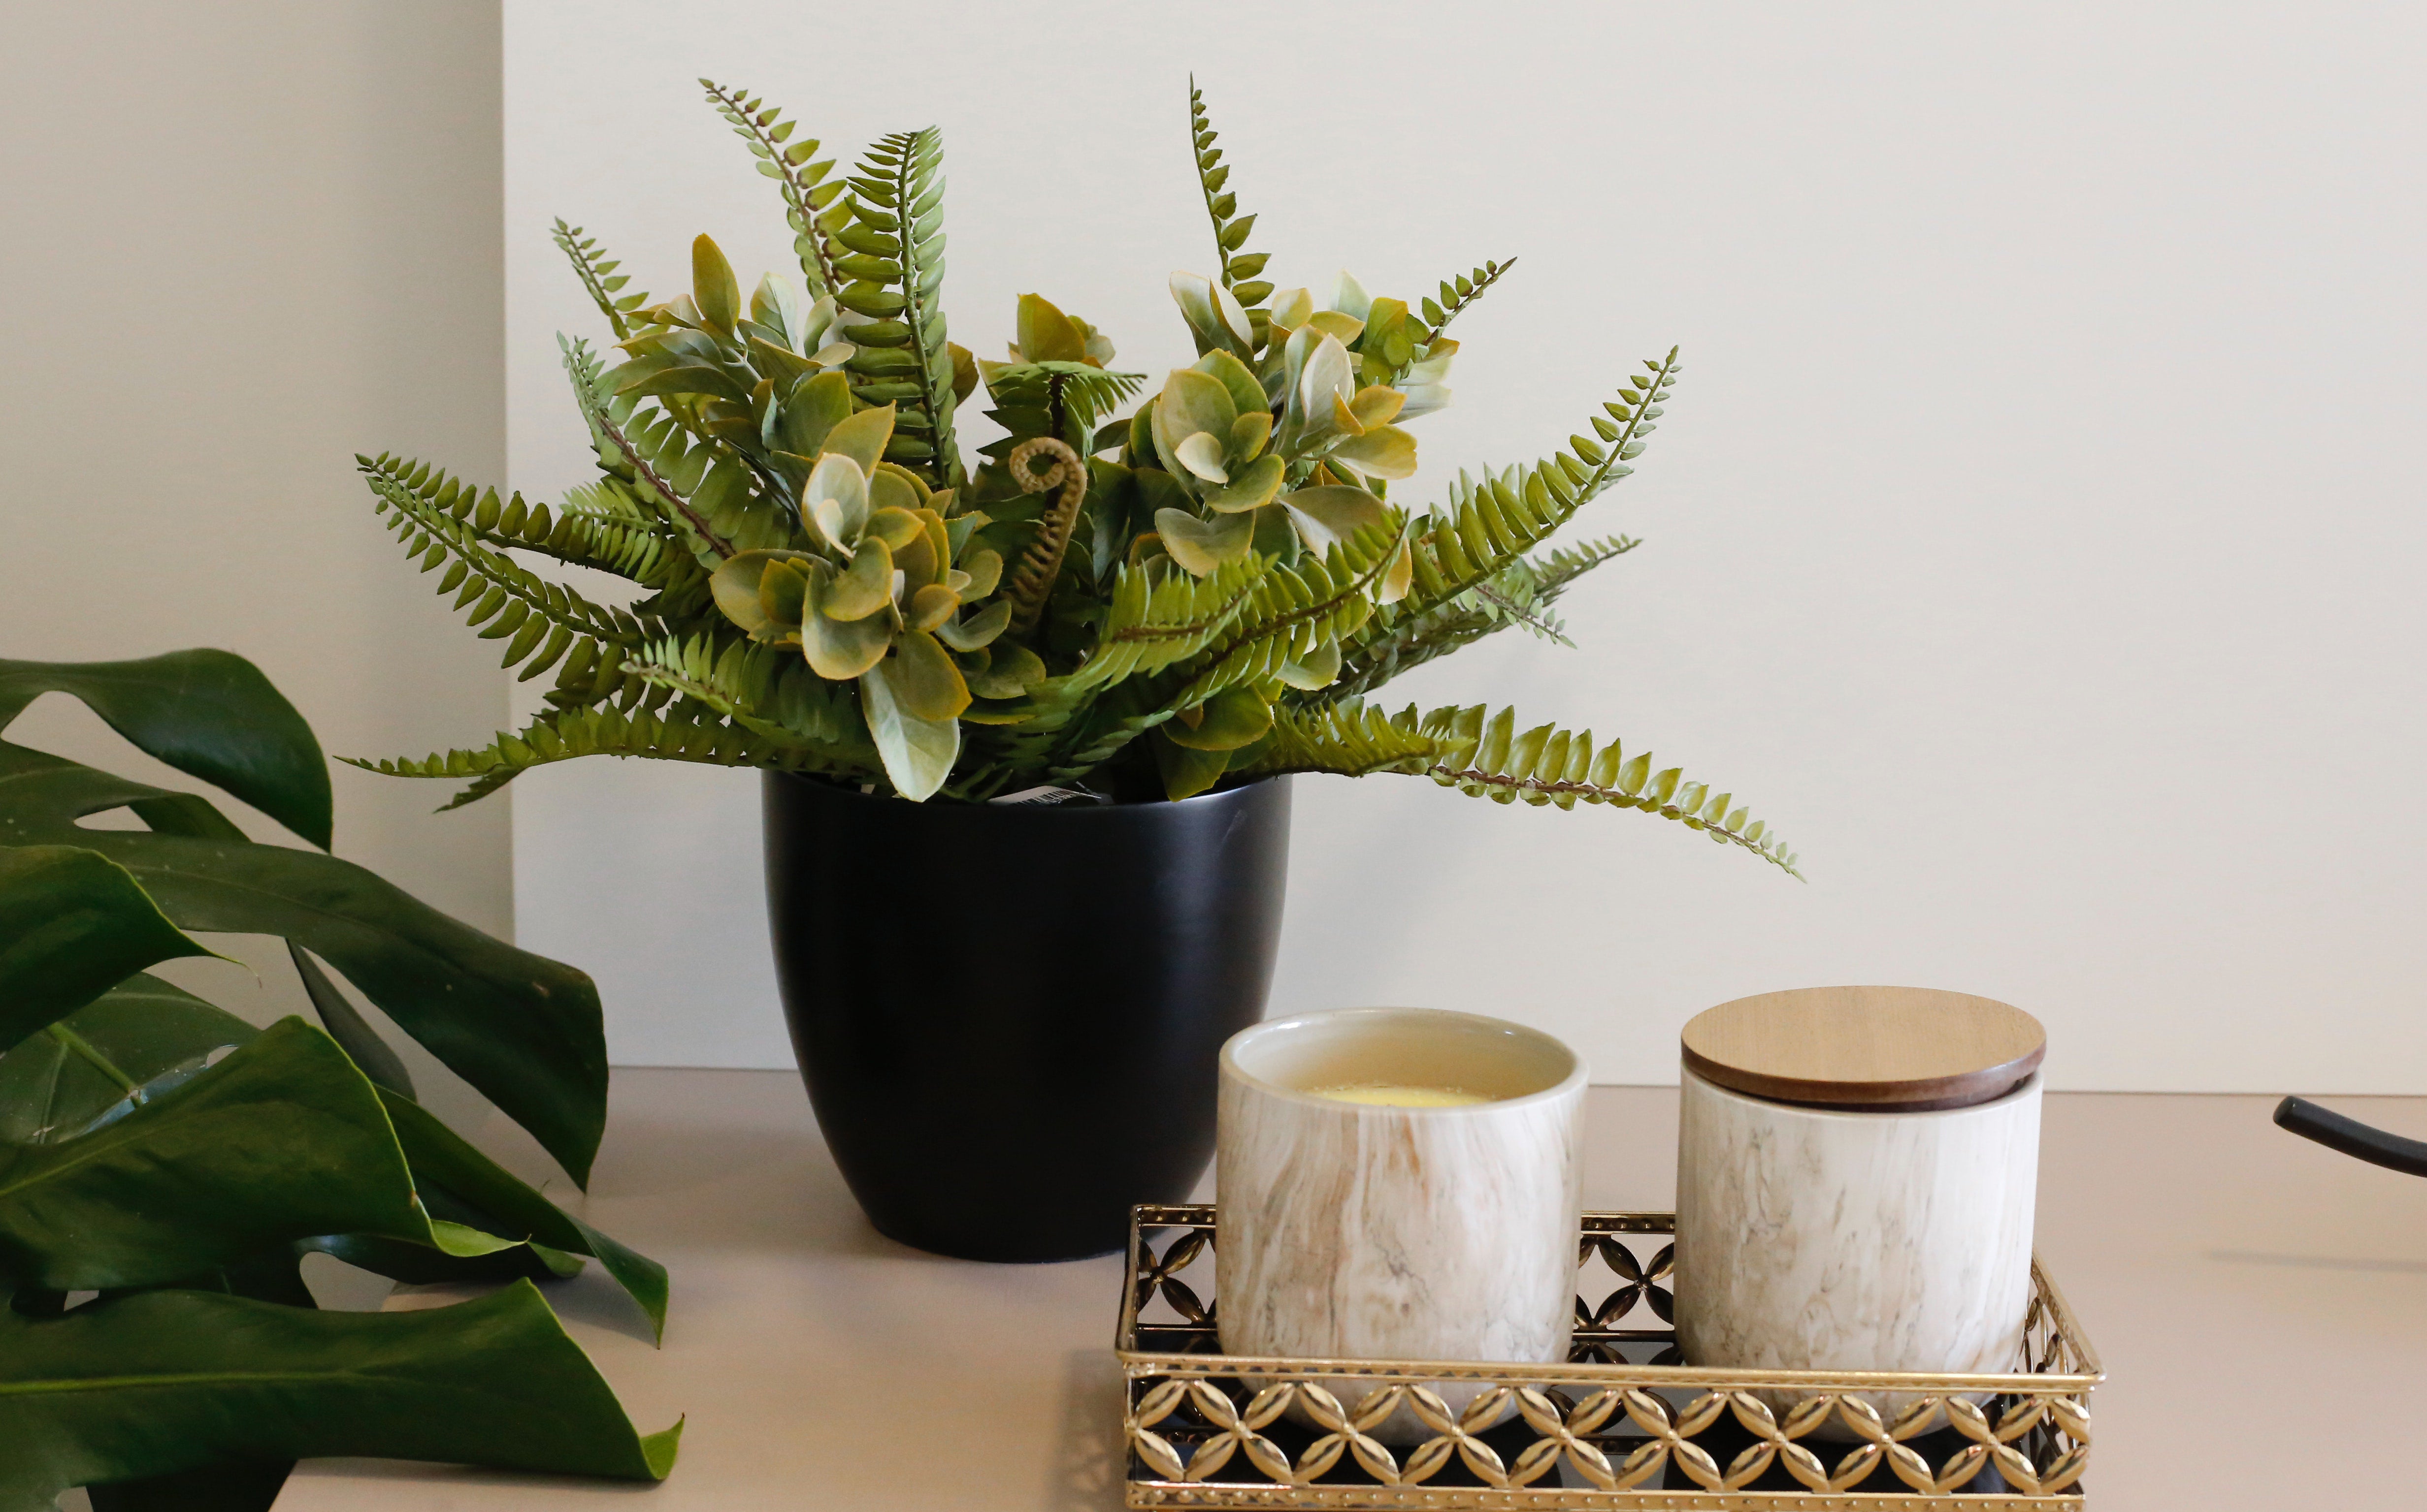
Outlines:
{"label": "lowest right fern frond, drooping out above the two candle jars", "polygon": [[1425,774],[1442,786],[1493,803],[1641,808],[1701,830],[1718,845],[1740,845],[1789,876],[1803,879],[1796,869],[1801,857],[1786,849],[1764,820],[1747,823],[1733,794],[1713,794],[1706,781],[1684,781],[1677,767],[1653,772],[1648,750],[1626,757],[1616,740],[1595,748],[1592,731],[1570,733],[1558,726],[1519,733],[1514,709],[1485,716],[1483,704],[1434,709],[1415,728],[1442,740],[1442,752],[1425,767]]}

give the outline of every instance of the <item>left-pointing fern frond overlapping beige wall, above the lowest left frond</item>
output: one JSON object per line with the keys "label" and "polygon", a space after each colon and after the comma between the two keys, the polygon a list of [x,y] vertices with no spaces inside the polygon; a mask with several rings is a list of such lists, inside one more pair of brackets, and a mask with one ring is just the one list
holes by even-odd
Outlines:
{"label": "left-pointing fern frond overlapping beige wall, above the lowest left frond", "polygon": [[500,665],[519,665],[522,680],[546,672],[582,641],[638,648],[658,633],[631,612],[592,604],[483,544],[483,536],[519,536],[541,519],[522,495],[500,505],[498,490],[481,493],[430,464],[396,456],[359,456],[357,464],[379,498],[374,512],[405,541],[405,558],[420,561],[425,573],[447,563],[439,595],[456,595],[454,607],[468,609],[466,624],[483,626],[483,641],[507,643]]}

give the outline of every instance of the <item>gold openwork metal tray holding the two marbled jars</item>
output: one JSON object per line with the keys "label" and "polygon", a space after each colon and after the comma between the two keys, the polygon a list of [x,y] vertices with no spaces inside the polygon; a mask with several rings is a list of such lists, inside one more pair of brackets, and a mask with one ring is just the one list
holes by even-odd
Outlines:
{"label": "gold openwork metal tray holding the two marbled jars", "polygon": [[[1568,1364],[1250,1359],[1214,1330],[1214,1233],[1211,1206],[1131,1216],[1114,1342],[1131,1507],[2082,1507],[2107,1376],[2036,1262],[2005,1376],[1679,1364],[1675,1213],[1585,1213]],[[1383,1444],[1393,1415],[1430,1437]]]}

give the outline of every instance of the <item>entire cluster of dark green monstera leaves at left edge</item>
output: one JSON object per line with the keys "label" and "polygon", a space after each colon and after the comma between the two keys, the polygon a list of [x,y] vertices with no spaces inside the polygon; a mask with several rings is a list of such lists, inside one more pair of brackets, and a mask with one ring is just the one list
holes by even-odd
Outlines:
{"label": "entire cluster of dark green monstera leaves at left edge", "polygon": [[[0,660],[0,733],[46,692],[279,820],[0,740],[0,1512],[269,1507],[303,1456],[655,1480],[641,1434],[532,1286],[595,1255],[665,1318],[665,1269],[447,1129],[335,966],[585,1182],[607,1116],[597,990],[328,854],[320,743],[250,663]],[[87,828],[97,815],[141,828]],[[269,1029],[146,968],[192,932],[279,934],[320,1024]],[[301,1260],[510,1281],[323,1313]]]}

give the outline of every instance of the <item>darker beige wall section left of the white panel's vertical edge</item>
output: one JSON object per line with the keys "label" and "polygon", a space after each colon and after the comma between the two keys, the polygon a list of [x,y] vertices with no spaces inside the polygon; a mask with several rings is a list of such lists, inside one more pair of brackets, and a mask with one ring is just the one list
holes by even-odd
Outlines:
{"label": "darker beige wall section left of the white panel's vertical edge", "polygon": [[[0,141],[0,655],[223,646],[330,752],[502,723],[495,650],[403,568],[352,466],[505,461],[495,0],[15,5]],[[184,781],[61,697],[12,738]],[[335,784],[337,854],[512,930],[502,803],[434,818],[434,784]],[[301,1007],[284,956],[243,954],[260,985],[182,980]]]}

